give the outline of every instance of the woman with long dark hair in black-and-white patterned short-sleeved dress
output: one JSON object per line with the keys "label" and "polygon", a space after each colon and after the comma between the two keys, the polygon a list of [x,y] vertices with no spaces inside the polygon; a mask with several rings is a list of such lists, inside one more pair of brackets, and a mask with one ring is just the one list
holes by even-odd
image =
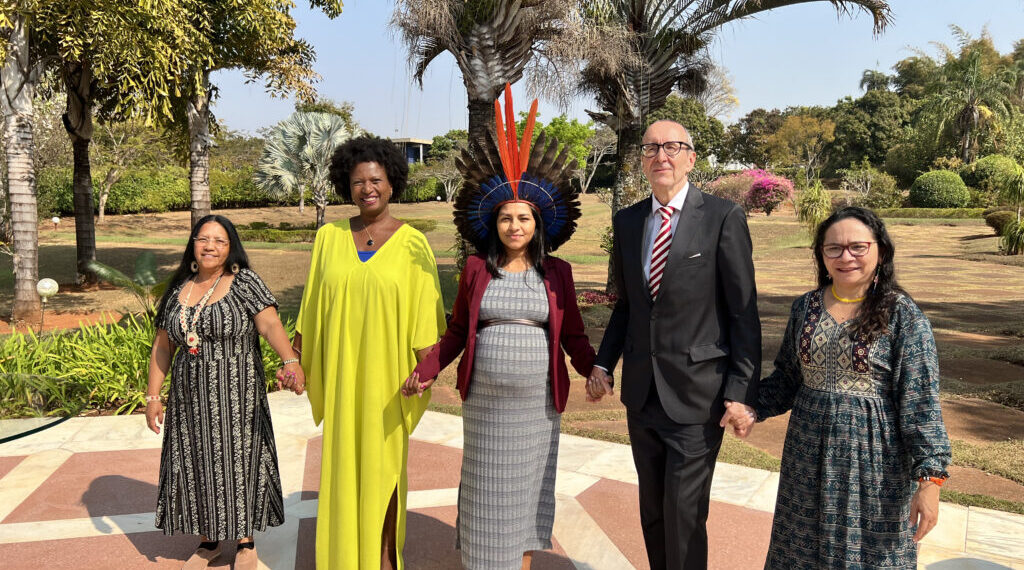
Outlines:
{"label": "woman with long dark hair in black-and-white patterned short-sleeved dress", "polygon": [[253,532],[284,523],[260,335],[303,376],[276,306],[231,222],[199,220],[157,310],[145,397],[150,429],[166,428],[157,527],[202,540],[185,569],[206,568],[221,540],[239,541],[234,568],[255,569]]}

